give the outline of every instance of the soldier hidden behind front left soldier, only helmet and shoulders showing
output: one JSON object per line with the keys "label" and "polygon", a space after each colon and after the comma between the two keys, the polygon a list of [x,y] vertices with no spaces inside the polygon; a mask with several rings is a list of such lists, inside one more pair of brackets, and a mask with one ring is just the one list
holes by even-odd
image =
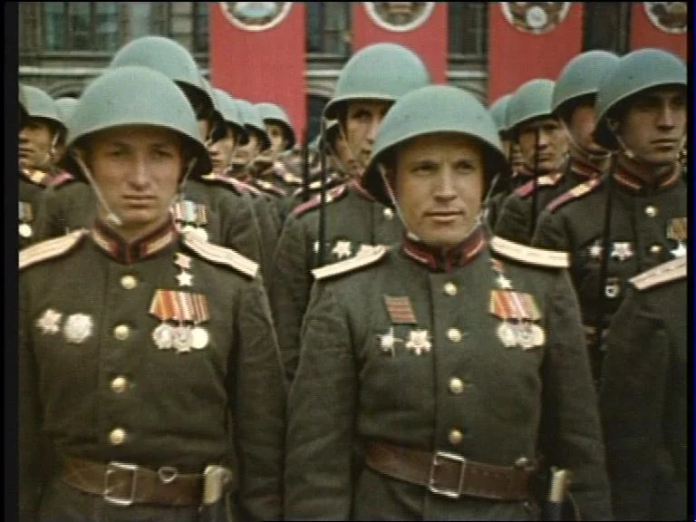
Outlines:
{"label": "soldier hidden behind front left soldier, only helmet and shoulders showing", "polygon": [[[161,36],[138,38],[121,47],[109,66],[125,65],[150,67],[175,82],[196,112],[202,139],[215,141],[224,135],[226,125],[219,123],[218,111],[196,62],[180,43]],[[53,192],[54,201],[43,204],[43,216],[40,217],[42,238],[91,226],[95,208],[91,199],[93,195],[82,181],[69,180],[55,187]],[[46,198],[51,196],[47,194]],[[201,176],[187,179],[172,213],[177,227],[191,230],[211,243],[232,248],[261,262],[260,237],[250,204],[216,179]]]}

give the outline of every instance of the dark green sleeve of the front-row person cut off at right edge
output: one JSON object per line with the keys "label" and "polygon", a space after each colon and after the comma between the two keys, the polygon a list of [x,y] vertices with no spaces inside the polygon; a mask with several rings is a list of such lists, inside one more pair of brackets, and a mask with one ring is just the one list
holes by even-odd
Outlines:
{"label": "dark green sleeve of the front-row person cut off at right edge", "polygon": [[[659,315],[629,288],[607,334],[601,391],[606,458],[614,512],[652,519],[662,440],[670,339]],[[664,456],[669,460],[669,455]],[[668,464],[669,466],[669,464]]]}

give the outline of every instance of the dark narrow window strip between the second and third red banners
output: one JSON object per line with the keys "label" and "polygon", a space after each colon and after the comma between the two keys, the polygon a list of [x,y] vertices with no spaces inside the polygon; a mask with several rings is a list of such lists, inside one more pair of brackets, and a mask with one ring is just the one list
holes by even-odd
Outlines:
{"label": "dark narrow window strip between the second and third red banners", "polygon": [[[449,2],[449,54],[484,59],[488,55],[488,2]],[[498,8],[498,5],[492,5]]]}

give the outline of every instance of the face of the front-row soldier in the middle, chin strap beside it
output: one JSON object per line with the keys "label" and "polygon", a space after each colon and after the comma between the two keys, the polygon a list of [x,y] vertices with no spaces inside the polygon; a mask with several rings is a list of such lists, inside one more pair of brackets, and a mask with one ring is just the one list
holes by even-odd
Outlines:
{"label": "face of the front-row soldier in the middle, chin strap beside it", "polygon": [[431,247],[455,247],[481,209],[482,151],[478,142],[457,134],[415,138],[397,151],[395,181],[407,229]]}

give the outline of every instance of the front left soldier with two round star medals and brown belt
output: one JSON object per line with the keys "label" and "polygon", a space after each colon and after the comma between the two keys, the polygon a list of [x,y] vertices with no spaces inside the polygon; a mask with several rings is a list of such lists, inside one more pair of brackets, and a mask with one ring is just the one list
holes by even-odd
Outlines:
{"label": "front left soldier with two round star medals and brown belt", "polygon": [[[91,230],[20,255],[23,516],[278,519],[284,391],[256,263],[169,211],[210,169],[186,97],[148,68],[107,70],[63,161],[102,205]],[[42,476],[42,435],[56,476]]]}

